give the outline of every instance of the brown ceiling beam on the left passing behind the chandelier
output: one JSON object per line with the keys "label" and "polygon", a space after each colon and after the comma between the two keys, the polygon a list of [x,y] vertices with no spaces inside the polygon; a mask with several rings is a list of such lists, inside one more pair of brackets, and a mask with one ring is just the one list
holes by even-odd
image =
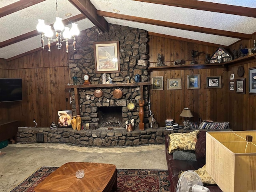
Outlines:
{"label": "brown ceiling beam on the left passing behind the chandelier", "polygon": [[[65,26],[65,25],[68,25],[68,24],[73,23],[73,22],[77,22],[77,21],[85,19],[85,18],[86,18],[86,16],[84,16],[83,14],[78,14],[76,16],[73,16],[73,17],[70,17],[68,19],[62,20],[62,22]],[[50,26],[53,27],[53,24],[50,24]],[[17,43],[17,42],[20,42],[22,40],[25,40],[25,39],[28,39],[28,38],[31,38],[31,37],[34,37],[34,36],[37,36],[37,35],[39,35],[39,32],[37,30],[30,31],[30,32],[22,34],[20,36],[8,39],[8,40],[3,41],[3,42],[0,42],[0,48],[11,45],[11,44],[14,44],[14,43]]]}

